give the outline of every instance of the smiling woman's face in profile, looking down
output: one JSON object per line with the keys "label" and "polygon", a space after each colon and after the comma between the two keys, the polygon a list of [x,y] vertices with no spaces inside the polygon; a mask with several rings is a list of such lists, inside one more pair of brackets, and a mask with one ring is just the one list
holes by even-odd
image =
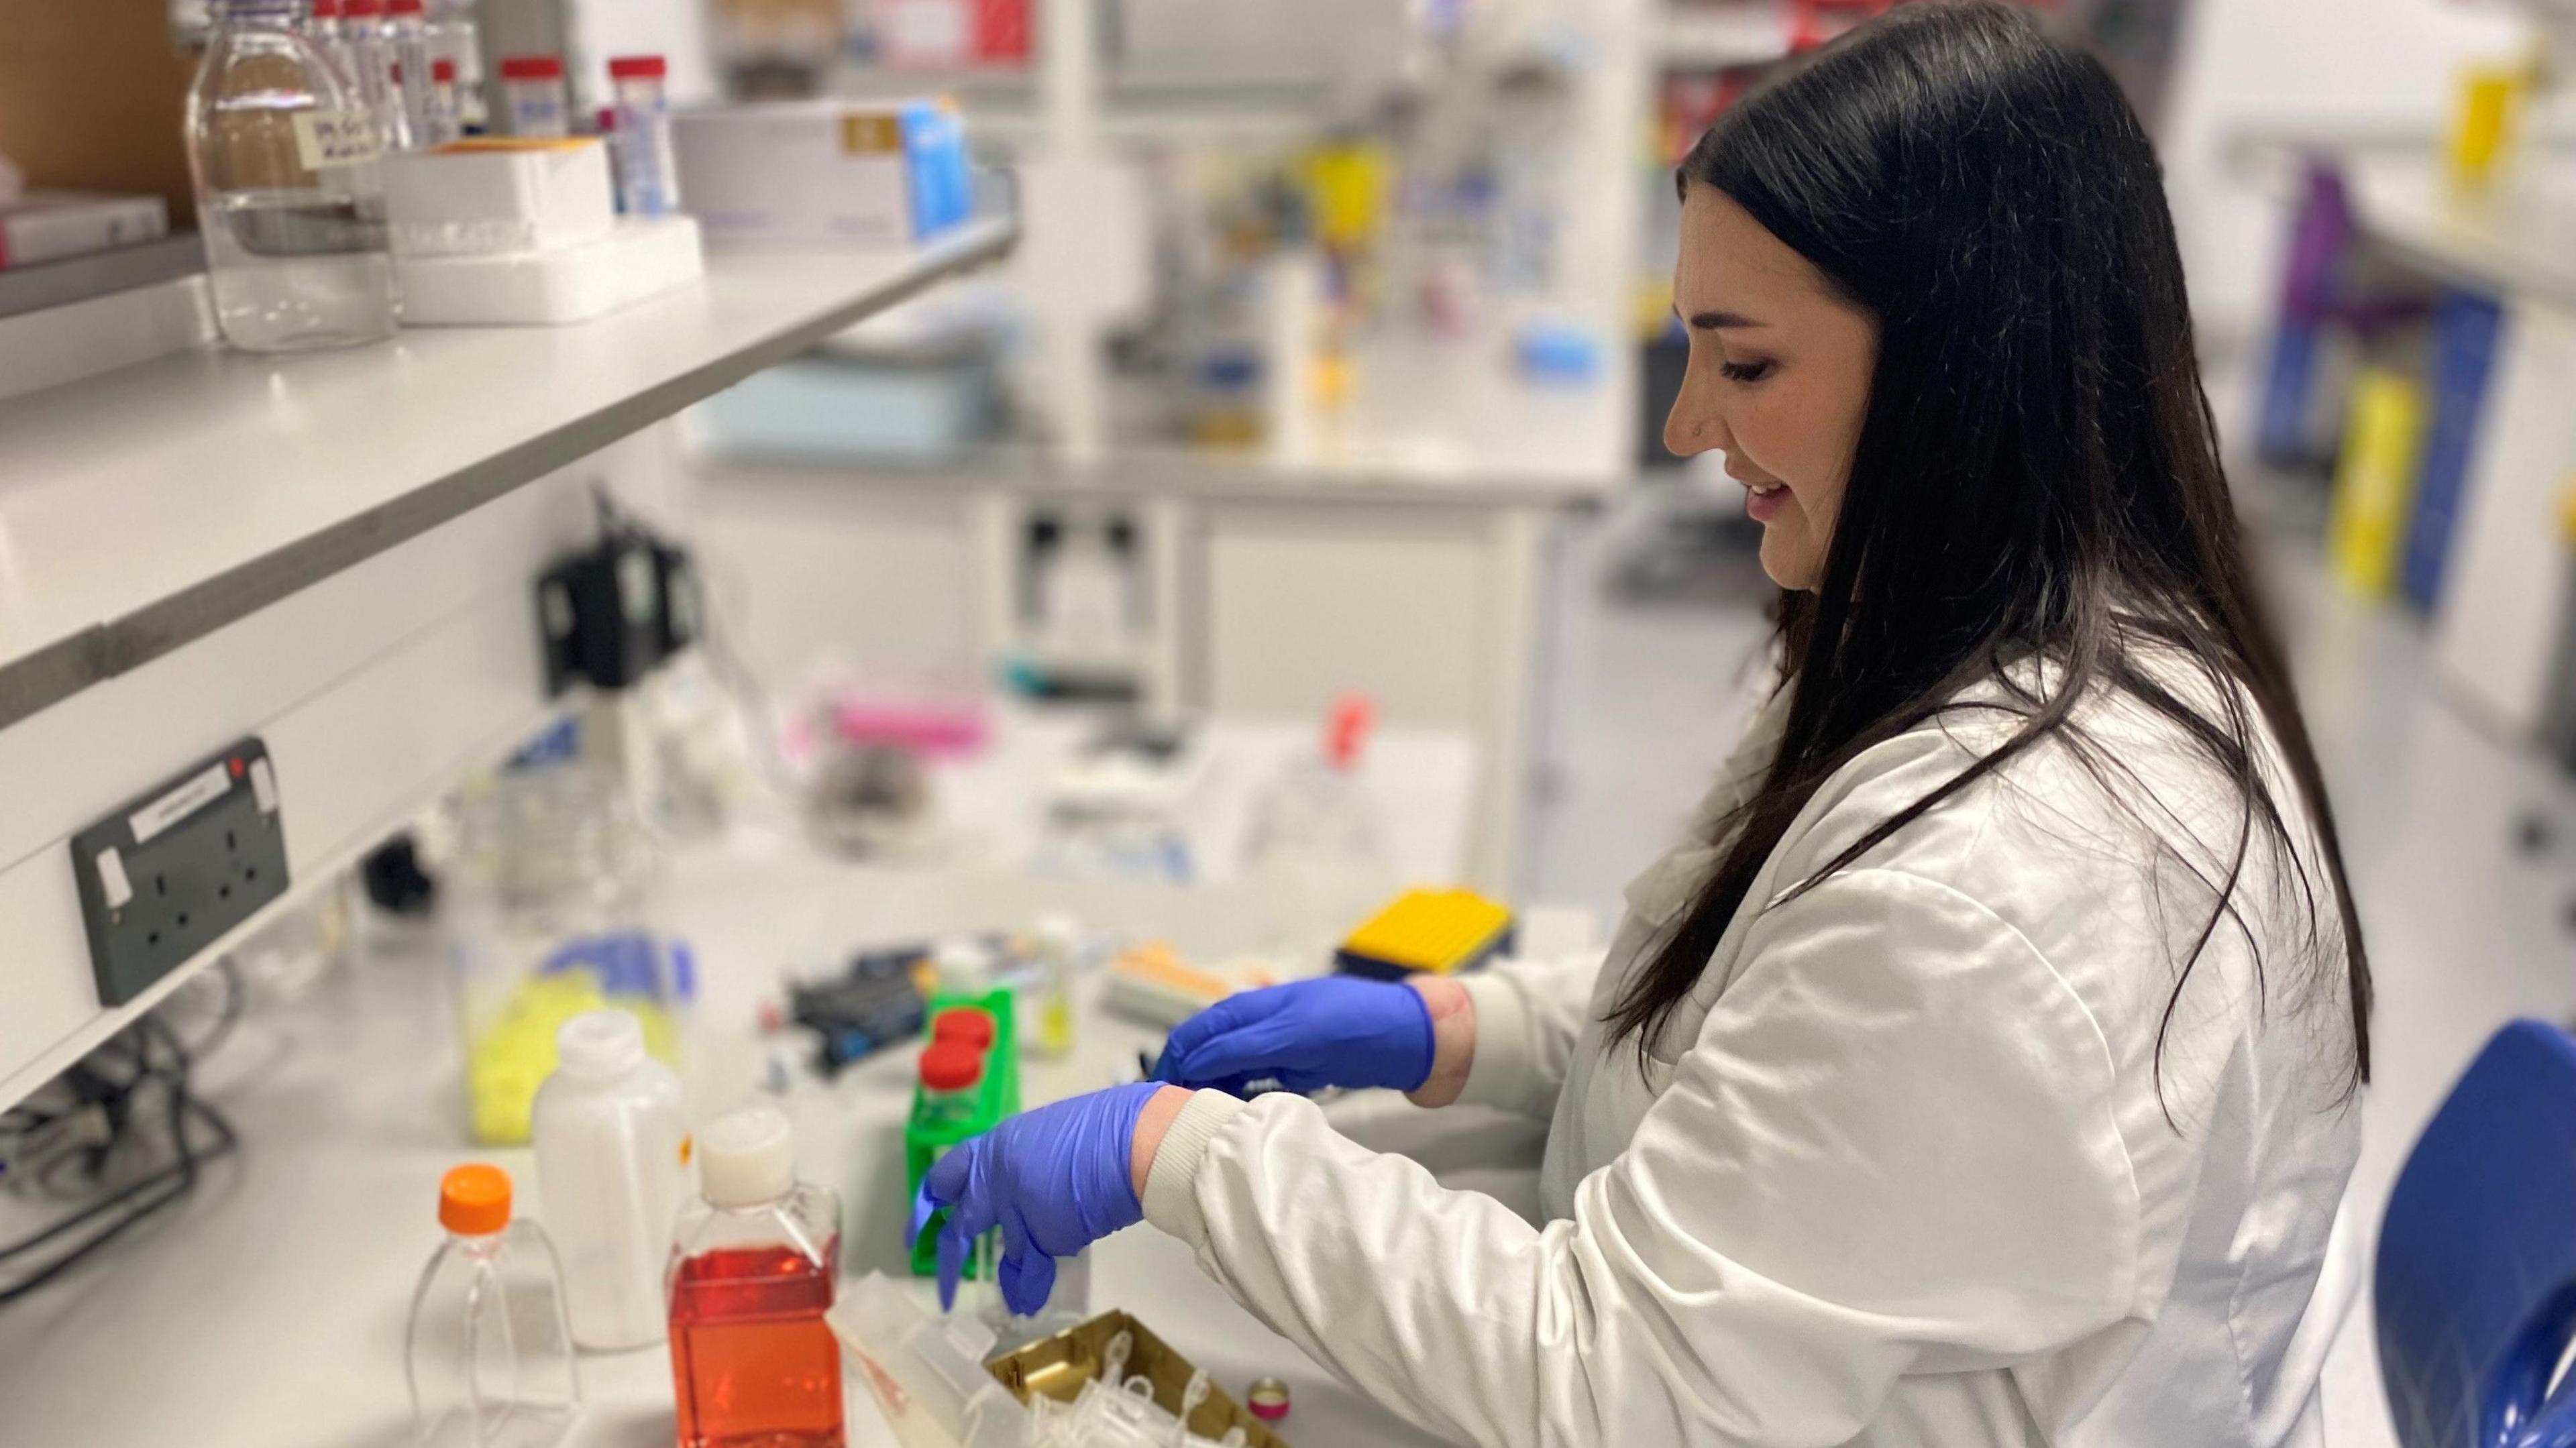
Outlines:
{"label": "smiling woman's face in profile, looking down", "polygon": [[1744,515],[1762,523],[1762,572],[1780,587],[1816,587],[1870,405],[1878,319],[1700,183],[1682,198],[1672,307],[1690,327],[1690,371],[1664,446],[1726,453]]}

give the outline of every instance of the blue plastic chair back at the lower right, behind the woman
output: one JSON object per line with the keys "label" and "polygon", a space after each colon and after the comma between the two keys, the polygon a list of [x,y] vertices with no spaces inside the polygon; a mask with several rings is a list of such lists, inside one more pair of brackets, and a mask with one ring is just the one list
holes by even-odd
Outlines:
{"label": "blue plastic chair back at the lower right, behind the woman", "polygon": [[[2375,1268],[2406,1448],[2576,1448],[2576,1038],[2517,1020],[2416,1139]],[[2576,1373],[2571,1373],[2576,1378]]]}

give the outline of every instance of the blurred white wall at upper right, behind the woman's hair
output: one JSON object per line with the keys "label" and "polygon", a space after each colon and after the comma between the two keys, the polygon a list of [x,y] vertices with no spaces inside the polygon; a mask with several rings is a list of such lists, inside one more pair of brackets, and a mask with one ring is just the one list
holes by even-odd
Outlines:
{"label": "blurred white wall at upper right, behind the woman's hair", "polygon": [[2166,108],[2166,188],[2202,332],[2259,332],[2280,271],[2282,206],[2226,170],[2244,124],[2437,131],[2458,67],[2519,54],[2509,0],[2192,0]]}

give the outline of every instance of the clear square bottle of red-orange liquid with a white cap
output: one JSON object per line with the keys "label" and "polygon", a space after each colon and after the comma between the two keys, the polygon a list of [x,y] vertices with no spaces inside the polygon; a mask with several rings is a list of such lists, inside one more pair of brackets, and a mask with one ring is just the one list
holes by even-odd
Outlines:
{"label": "clear square bottle of red-orange liquid with a white cap", "polygon": [[778,1108],[698,1134],[706,1211],[670,1257],[670,1373],[680,1448],[842,1448],[840,1340],[824,1324],[840,1198],[796,1180]]}

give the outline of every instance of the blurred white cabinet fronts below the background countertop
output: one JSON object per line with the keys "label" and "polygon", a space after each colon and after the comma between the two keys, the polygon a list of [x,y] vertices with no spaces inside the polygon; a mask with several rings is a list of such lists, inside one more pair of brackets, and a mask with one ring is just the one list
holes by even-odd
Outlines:
{"label": "blurred white cabinet fronts below the background countertop", "polygon": [[1468,871],[1512,891],[1533,773],[1538,600],[1553,520],[1605,484],[1316,482],[1221,459],[1077,479],[1038,456],[953,472],[701,456],[690,515],[719,626],[773,688],[989,680],[1048,660],[1030,631],[1030,523],[1136,531],[1123,665],[1151,709],[1303,721],[1365,693],[1394,727],[1476,745]]}

